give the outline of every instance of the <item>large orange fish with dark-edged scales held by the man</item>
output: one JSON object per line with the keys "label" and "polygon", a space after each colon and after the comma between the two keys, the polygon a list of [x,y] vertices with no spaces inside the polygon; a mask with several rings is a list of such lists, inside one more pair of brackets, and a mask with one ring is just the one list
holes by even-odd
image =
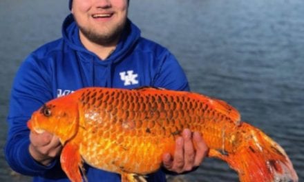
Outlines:
{"label": "large orange fish with dark-edged scales held by the man", "polygon": [[238,111],[224,101],[202,94],[84,88],[43,105],[28,128],[59,136],[61,168],[71,181],[82,181],[84,162],[119,173],[124,182],[143,181],[160,168],[162,154],[174,153],[184,128],[203,134],[208,156],[226,161],[240,181],[298,181],[280,145],[240,122]]}

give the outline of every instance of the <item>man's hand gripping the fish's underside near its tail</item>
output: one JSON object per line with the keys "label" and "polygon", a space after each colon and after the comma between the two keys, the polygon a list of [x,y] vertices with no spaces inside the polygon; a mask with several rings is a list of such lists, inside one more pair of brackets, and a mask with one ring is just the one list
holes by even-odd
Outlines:
{"label": "man's hand gripping the fish's underside near its tail", "polygon": [[[195,146],[195,147],[194,147]],[[164,168],[176,173],[189,172],[202,163],[208,152],[208,147],[198,132],[185,129],[182,136],[176,139],[175,153],[166,153],[162,156]]]}

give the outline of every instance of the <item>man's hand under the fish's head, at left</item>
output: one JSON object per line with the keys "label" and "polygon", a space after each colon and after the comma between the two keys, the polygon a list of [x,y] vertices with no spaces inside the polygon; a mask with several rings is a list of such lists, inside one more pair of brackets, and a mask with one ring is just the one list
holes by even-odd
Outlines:
{"label": "man's hand under the fish's head, at left", "polygon": [[50,164],[62,150],[62,145],[57,136],[44,132],[37,134],[30,132],[30,155],[42,165]]}

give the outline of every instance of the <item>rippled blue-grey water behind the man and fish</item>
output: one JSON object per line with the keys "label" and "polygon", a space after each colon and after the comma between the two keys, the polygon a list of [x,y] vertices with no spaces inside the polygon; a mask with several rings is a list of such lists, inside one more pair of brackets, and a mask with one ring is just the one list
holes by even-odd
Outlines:
{"label": "rippled blue-grey water behind the man and fish", "polygon": [[[61,35],[62,0],[1,0],[0,146],[12,78],[26,55]],[[129,17],[144,37],[166,46],[191,89],[234,105],[243,120],[285,148],[304,180],[304,1],[132,0]],[[3,69],[4,68],[4,69]],[[29,181],[0,154],[0,181]],[[218,160],[206,159],[188,181],[238,181]]]}

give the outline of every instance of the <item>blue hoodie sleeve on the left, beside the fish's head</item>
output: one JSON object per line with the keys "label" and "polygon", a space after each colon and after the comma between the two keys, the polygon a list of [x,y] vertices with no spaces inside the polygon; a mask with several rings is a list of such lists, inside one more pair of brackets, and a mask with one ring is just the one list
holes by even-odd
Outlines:
{"label": "blue hoodie sleeve on the left, beside the fish's head", "polygon": [[16,74],[10,96],[6,161],[12,170],[30,176],[39,176],[55,165],[54,162],[46,167],[32,159],[28,150],[30,130],[26,125],[32,112],[52,98],[48,69],[30,55]]}

